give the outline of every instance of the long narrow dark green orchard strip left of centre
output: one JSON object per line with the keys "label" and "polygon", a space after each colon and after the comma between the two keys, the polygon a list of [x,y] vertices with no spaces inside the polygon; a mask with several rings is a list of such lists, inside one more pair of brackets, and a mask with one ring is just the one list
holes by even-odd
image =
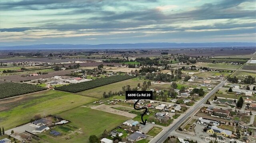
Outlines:
{"label": "long narrow dark green orchard strip left of centre", "polygon": [[112,83],[119,82],[122,80],[127,80],[127,79],[134,78],[134,77],[135,76],[116,75],[116,76],[110,76],[110,77],[106,77],[106,78],[98,78],[98,79],[90,80],[90,81],[86,81],[86,82],[80,82],[80,83],[76,83],[76,84],[64,85],[64,86],[56,87],[55,89],[61,90],[61,91],[66,91],[66,92],[76,93],[76,92],[81,92],[84,90],[104,86],[107,84],[112,84]]}

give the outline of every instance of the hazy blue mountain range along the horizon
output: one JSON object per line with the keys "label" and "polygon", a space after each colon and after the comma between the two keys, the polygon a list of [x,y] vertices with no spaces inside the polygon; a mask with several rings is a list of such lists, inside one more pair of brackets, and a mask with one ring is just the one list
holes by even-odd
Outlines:
{"label": "hazy blue mountain range along the horizon", "polygon": [[208,48],[208,47],[256,47],[256,43],[218,42],[218,43],[127,43],[127,44],[40,44],[22,46],[3,46],[1,50],[42,50],[42,49],[142,49],[142,48]]}

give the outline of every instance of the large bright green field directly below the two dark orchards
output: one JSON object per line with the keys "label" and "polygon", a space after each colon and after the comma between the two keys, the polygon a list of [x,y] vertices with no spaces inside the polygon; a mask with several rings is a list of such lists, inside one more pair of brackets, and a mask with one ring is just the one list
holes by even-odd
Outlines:
{"label": "large bright green field directly below the two dark orchards", "polygon": [[27,123],[36,114],[48,116],[69,110],[89,102],[95,98],[79,96],[60,91],[46,91],[8,100],[1,100],[0,122],[4,129],[11,129],[22,123]]}

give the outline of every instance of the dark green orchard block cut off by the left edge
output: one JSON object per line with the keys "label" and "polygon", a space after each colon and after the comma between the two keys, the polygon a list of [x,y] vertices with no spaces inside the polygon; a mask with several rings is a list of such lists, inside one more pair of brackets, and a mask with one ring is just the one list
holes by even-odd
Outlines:
{"label": "dark green orchard block cut off by the left edge", "polygon": [[21,84],[15,82],[3,83],[0,86],[0,99],[38,92],[42,90],[46,90],[46,88],[31,84]]}

